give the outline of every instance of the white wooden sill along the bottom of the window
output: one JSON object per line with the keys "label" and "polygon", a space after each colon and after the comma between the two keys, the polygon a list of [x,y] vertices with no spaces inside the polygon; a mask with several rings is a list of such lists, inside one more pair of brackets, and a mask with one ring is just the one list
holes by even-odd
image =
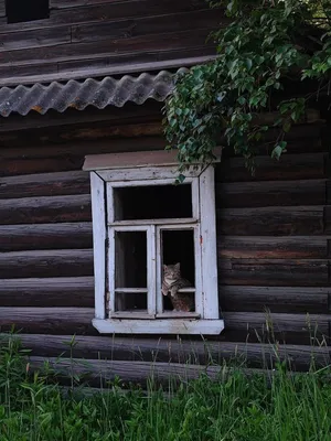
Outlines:
{"label": "white wooden sill along the bottom of the window", "polygon": [[93,325],[100,334],[177,334],[218,335],[223,320],[111,320],[94,319]]}

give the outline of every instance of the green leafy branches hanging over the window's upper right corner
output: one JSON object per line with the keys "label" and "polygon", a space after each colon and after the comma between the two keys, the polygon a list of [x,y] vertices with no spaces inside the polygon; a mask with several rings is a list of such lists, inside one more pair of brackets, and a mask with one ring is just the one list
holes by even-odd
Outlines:
{"label": "green leafy branches hanging over the window's upper right corner", "polygon": [[[210,36],[217,57],[179,73],[164,107],[169,148],[178,149],[181,170],[209,162],[220,142],[245,158],[254,171],[256,148],[277,128],[271,157],[286,151],[285,135],[305,114],[307,103],[328,89],[331,72],[330,0],[221,0],[231,23]],[[290,96],[290,80],[313,83],[313,90]],[[287,94],[287,96],[284,96]],[[277,101],[277,97],[282,99]],[[259,114],[278,110],[270,125]]]}

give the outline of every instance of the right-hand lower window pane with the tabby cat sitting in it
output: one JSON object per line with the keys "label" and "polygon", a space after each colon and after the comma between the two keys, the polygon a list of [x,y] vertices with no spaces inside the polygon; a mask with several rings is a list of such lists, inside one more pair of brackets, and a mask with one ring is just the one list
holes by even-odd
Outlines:
{"label": "right-hand lower window pane with the tabby cat sitting in it", "polygon": [[[193,229],[161,230],[162,280],[170,287],[163,298],[163,310],[195,311],[194,283],[194,232]],[[168,279],[167,279],[168,278]],[[180,287],[191,292],[178,292],[173,295],[171,288]]]}

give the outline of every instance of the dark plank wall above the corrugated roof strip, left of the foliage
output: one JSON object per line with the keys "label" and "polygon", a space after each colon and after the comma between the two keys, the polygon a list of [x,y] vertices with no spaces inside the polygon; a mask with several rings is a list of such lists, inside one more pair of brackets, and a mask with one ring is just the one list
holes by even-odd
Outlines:
{"label": "dark plank wall above the corrugated roof strip, left of the foliage", "polygon": [[0,0],[0,86],[191,65],[227,22],[204,0],[50,0],[49,19],[8,24]]}

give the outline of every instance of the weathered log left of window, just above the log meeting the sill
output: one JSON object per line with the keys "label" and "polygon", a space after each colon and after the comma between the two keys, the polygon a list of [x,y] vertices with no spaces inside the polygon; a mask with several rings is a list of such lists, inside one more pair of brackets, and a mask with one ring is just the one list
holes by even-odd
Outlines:
{"label": "weathered log left of window, just above the log meeting the sill", "polygon": [[94,306],[93,277],[2,279],[1,306]]}

